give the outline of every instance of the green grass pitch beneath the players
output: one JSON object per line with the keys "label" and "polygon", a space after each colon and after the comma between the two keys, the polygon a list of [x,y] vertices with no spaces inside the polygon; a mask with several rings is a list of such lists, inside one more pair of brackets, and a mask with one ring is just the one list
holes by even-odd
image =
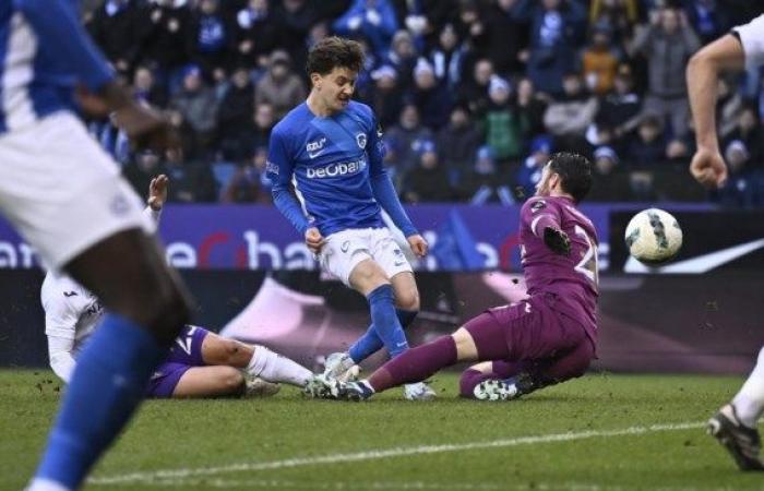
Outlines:
{"label": "green grass pitch beneath the players", "polygon": [[[48,382],[51,381],[51,382]],[[145,404],[86,490],[761,490],[703,422],[740,378],[592,373],[512,403],[398,390],[366,403]],[[0,371],[0,490],[33,472],[60,397],[48,371]]]}

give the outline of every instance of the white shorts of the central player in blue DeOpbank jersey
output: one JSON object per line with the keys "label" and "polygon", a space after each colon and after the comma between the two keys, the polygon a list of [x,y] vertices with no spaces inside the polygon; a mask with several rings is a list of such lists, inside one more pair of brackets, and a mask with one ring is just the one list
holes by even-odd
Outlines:
{"label": "white shorts of the central player in blue DeOpbank jersey", "polygon": [[347,286],[350,286],[353,270],[367,259],[379,264],[387,278],[411,271],[411,265],[386,228],[360,228],[332,233],[326,237],[319,254],[321,267]]}

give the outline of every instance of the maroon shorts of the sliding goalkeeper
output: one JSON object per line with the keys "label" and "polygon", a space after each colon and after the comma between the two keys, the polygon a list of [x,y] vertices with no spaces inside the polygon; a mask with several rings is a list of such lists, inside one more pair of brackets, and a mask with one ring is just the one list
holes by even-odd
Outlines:
{"label": "maroon shorts of the sliding goalkeeper", "polygon": [[[584,325],[554,309],[557,296],[541,294],[512,306],[490,309],[467,322],[481,361],[554,360],[568,354],[595,356]],[[573,363],[580,366],[581,363]]]}

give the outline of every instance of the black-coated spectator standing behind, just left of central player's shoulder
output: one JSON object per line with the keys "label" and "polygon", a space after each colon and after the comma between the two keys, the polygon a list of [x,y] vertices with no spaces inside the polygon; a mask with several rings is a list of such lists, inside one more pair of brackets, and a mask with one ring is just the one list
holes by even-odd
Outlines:
{"label": "black-coated spectator standing behind, just left of central player's shoulder", "polygon": [[251,155],[254,86],[249,72],[239,68],[234,71],[217,111],[217,140],[225,160],[241,161]]}

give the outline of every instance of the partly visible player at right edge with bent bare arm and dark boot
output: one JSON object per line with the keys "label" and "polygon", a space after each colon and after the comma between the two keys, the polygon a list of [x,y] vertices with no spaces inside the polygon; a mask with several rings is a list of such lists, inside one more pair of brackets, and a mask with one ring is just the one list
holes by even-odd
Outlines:
{"label": "partly visible player at right edge with bent bare arm and dark boot", "polygon": [[[716,135],[716,99],[719,74],[757,69],[764,64],[764,15],[701,49],[687,70],[688,93],[695,123],[697,151],[690,164],[692,176],[707,188],[727,180],[727,166]],[[756,429],[764,411],[764,348],[753,372],[730,404],[708,421],[708,432],[732,455],[741,470],[764,470]]]}

